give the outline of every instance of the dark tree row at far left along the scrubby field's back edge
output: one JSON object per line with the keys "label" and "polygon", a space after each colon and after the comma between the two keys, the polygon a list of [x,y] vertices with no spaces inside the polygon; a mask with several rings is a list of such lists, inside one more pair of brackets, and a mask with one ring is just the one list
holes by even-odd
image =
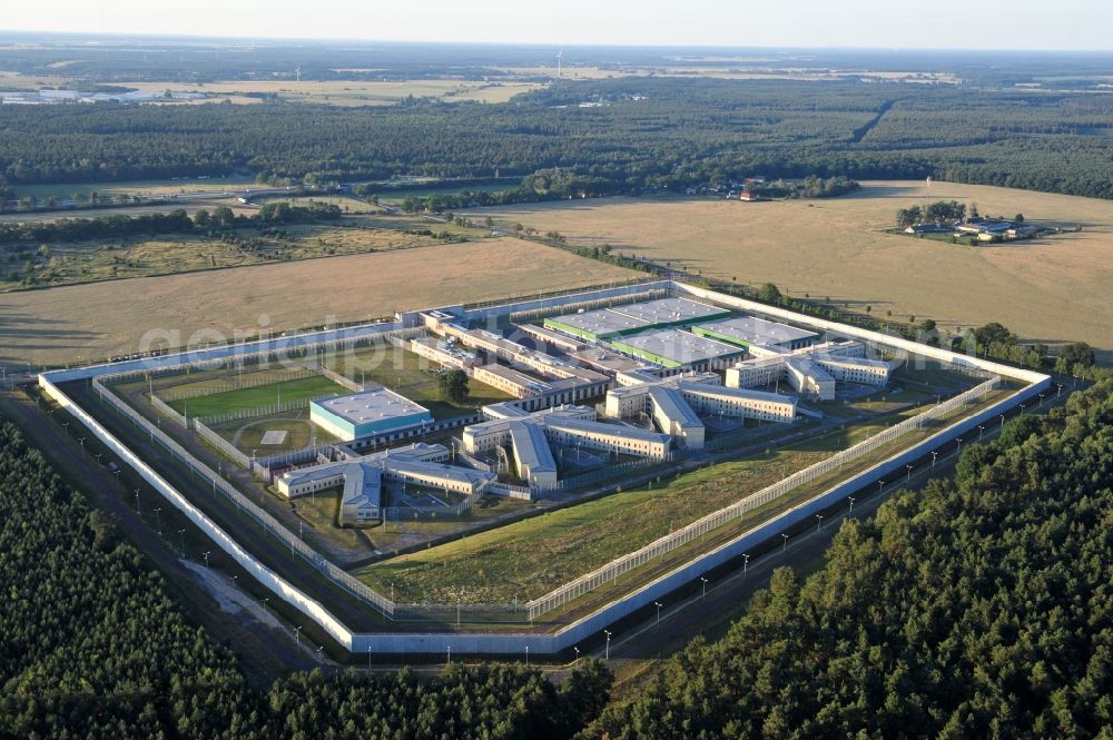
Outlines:
{"label": "dark tree row at far left along the scrubby field's back edge", "polygon": [[243,228],[248,226],[279,226],[335,220],[341,217],[335,204],[311,203],[293,206],[286,201],[264,204],[250,216],[237,215],[221,206],[211,213],[201,209],[190,218],[184,209],[168,214],[125,216],[112,214],[97,218],[61,218],[51,221],[0,223],[0,244],[46,241],[82,241],[86,239],[152,236],[158,234],[190,234]]}

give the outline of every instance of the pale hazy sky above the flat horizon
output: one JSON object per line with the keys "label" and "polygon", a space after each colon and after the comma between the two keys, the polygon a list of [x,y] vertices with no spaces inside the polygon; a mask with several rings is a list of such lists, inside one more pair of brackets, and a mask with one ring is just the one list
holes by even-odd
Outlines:
{"label": "pale hazy sky above the flat horizon", "polygon": [[545,45],[1113,50],[1111,0],[0,0],[0,30]]}

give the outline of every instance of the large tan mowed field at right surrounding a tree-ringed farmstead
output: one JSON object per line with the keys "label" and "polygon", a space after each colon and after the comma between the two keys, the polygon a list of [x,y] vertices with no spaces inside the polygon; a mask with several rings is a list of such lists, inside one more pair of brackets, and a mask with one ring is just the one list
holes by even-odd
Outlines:
{"label": "large tan mowed field at right surrounding a tree-ringed farmstead", "polygon": [[[1025,339],[1081,339],[1113,359],[1113,201],[951,182],[864,186],[823,200],[612,198],[470,215],[556,230],[573,245],[610,244],[708,277],[870,305],[875,315],[930,317],[948,328],[1001,322]],[[1084,230],[991,247],[884,233],[898,208],[951,199]]]}

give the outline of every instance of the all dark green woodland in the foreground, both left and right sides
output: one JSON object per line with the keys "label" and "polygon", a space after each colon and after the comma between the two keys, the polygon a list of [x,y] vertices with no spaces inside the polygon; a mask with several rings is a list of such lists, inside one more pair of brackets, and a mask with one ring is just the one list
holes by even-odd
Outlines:
{"label": "all dark green woodland in the foreground, both left and right sides", "polygon": [[[0,423],[0,737],[1111,738],[1113,375],[963,453],[953,481],[847,521],[717,643],[604,708],[584,661],[297,673],[267,691]],[[602,714],[600,712],[602,711]]]}

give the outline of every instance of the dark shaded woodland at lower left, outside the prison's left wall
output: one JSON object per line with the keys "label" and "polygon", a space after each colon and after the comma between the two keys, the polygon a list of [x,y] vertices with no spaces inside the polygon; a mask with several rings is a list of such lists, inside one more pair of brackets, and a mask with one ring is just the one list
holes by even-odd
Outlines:
{"label": "dark shaded woodland at lower left, outside the prison's left wall", "polygon": [[249,685],[162,578],[0,420],[0,738],[562,738],[607,702],[583,661],[562,684],[521,667],[296,673]]}

